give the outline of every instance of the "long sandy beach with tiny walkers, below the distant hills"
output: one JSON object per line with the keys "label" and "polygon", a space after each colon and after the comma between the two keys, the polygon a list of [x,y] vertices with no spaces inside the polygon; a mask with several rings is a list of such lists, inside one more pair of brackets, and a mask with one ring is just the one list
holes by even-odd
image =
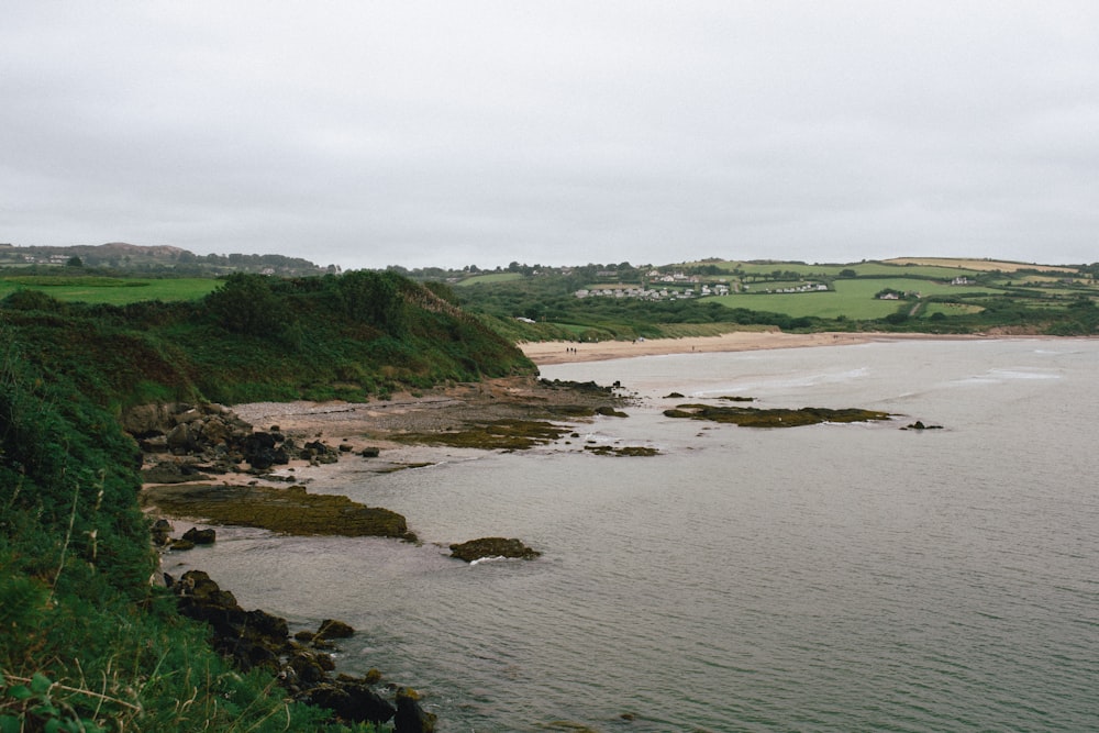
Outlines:
{"label": "long sandy beach with tiny walkers, below the distant hills", "polygon": [[848,346],[890,341],[977,341],[1002,337],[1041,337],[1012,334],[932,334],[886,332],[820,332],[784,333],[781,331],[734,331],[720,336],[684,336],[681,338],[644,338],[639,341],[600,341],[580,343],[568,341],[522,342],[518,344],[526,358],[539,366],[603,362],[634,356],[666,356],[669,354],[748,352],[771,348],[802,348],[809,346]]}

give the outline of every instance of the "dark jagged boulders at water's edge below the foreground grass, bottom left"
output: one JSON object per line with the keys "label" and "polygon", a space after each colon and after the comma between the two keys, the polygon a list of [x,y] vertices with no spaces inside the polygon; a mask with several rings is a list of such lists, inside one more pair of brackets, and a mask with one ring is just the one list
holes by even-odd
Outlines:
{"label": "dark jagged boulders at water's edge below the foreground grass, bottom left", "polygon": [[[346,623],[325,620],[317,633],[299,632],[291,638],[285,619],[265,611],[245,611],[236,598],[222,590],[201,570],[185,573],[179,580],[166,576],[184,615],[209,624],[215,649],[248,671],[266,669],[296,699],[328,708],[349,723],[385,723],[395,730],[431,733],[435,717],[420,706],[420,696],[397,687],[393,701],[375,689],[381,676],[371,670],[363,677],[335,675],[335,663],[321,640],[346,638],[355,633]],[[308,644],[308,646],[307,646]]]}

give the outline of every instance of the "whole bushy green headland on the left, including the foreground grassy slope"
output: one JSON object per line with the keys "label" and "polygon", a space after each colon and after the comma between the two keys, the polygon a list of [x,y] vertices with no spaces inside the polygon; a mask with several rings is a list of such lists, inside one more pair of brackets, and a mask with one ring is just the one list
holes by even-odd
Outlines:
{"label": "whole bushy green headland on the left, including the foreground grassy slope", "polygon": [[533,371],[446,296],[348,273],[234,275],[196,302],[0,302],[0,730],[351,730],[231,668],[151,585],[141,455],[118,417]]}

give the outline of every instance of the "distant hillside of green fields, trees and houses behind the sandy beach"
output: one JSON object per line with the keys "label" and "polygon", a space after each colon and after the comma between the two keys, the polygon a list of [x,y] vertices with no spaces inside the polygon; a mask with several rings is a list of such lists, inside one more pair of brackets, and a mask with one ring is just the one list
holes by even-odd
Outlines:
{"label": "distant hillside of green fields, trees and houses behind the sandy beach", "polygon": [[1099,330],[1097,269],[946,258],[823,265],[709,259],[519,266],[507,279],[484,273],[451,279],[463,308],[515,341],[745,329],[1088,335]]}

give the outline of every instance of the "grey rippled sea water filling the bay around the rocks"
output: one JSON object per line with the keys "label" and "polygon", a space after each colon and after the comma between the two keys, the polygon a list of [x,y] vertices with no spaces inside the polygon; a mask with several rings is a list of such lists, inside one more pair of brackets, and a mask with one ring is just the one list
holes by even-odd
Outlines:
{"label": "grey rippled sea water filling the bay around the rocks", "polygon": [[[233,530],[179,559],[246,608],[353,624],[344,668],[421,689],[443,731],[1099,730],[1099,342],[543,375],[643,404],[568,445],[311,485],[406,514],[423,546]],[[671,390],[903,418],[753,431],[666,419]],[[899,430],[914,420],[944,430]],[[439,546],[484,535],[545,554],[468,566]]]}

